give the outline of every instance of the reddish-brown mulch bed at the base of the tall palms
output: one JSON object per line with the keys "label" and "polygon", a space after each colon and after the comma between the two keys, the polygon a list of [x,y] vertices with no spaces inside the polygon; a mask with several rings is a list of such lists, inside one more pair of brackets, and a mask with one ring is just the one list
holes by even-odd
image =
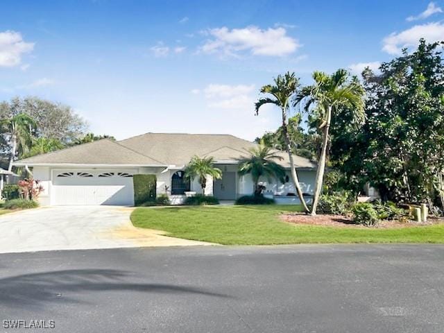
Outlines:
{"label": "reddish-brown mulch bed at the base of the tall palms", "polygon": [[[280,219],[287,223],[298,225],[324,225],[336,228],[368,228],[365,225],[358,225],[348,216],[318,214],[316,216],[309,216],[302,213],[282,214]],[[416,223],[414,221],[400,222],[400,221],[380,221],[377,226],[372,228],[409,228],[420,225],[433,225],[444,223],[443,219],[429,218],[427,223]]]}

